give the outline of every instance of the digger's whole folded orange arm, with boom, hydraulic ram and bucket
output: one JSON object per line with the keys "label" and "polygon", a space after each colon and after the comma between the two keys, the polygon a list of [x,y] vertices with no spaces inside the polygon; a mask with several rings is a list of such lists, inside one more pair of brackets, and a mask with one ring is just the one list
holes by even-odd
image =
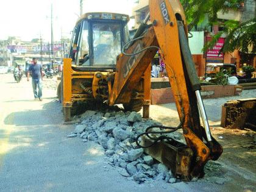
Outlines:
{"label": "digger's whole folded orange arm, with boom, hydraulic ram and bucket", "polygon": [[[171,127],[169,132],[183,129],[187,145],[163,136],[155,140],[149,133],[160,132],[148,132],[152,128],[149,127],[139,135],[143,138],[141,146],[148,154],[171,168],[177,177],[185,180],[202,177],[205,163],[217,160],[222,147],[210,133],[200,94],[201,86],[188,47],[187,24],[182,5],[176,0],[149,0],[149,12],[152,25],[146,27],[148,15],[133,40],[124,46],[126,50],[118,56],[108,102],[110,105],[118,104],[119,101],[129,102],[136,94],[134,90],[141,77],[146,75],[145,71],[157,49],[160,49],[180,118],[180,125]],[[201,126],[199,112],[204,127]]]}

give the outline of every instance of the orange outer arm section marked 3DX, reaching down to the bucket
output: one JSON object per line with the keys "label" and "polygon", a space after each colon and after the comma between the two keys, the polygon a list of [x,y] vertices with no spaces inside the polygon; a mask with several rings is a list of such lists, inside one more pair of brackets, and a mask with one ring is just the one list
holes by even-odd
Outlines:
{"label": "orange outer arm section marked 3DX, reaching down to the bucket", "polygon": [[[218,159],[222,153],[222,147],[214,138],[212,142],[204,143],[205,130],[201,128],[196,96],[192,91],[180,51],[176,16],[177,14],[180,15],[180,12],[177,12],[177,5],[180,6],[180,10],[182,10],[182,7],[176,3],[176,9],[172,9],[172,3],[175,2],[151,0],[149,1],[149,9],[151,20],[154,24],[154,35],[157,38],[166,64],[166,72],[176,100],[177,111],[181,120],[183,119],[182,116],[185,117],[185,121],[182,123],[183,135],[187,142],[187,147],[193,151],[190,168],[186,169],[189,173],[187,172],[184,176],[202,177],[204,176],[205,163],[210,159]],[[177,18],[185,22],[183,16],[181,14]],[[187,27],[184,30],[186,32]],[[162,151],[163,148],[163,146],[158,146],[159,151]],[[152,155],[154,153],[157,154],[157,151],[152,152]],[[158,155],[155,156],[157,157]],[[182,155],[178,155],[178,157],[182,159]],[[163,158],[157,158],[165,163]]]}

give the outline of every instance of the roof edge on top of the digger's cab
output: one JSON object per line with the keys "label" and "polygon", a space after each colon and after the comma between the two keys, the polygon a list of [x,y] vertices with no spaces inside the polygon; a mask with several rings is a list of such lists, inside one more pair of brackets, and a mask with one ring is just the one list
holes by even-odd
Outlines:
{"label": "roof edge on top of the digger's cab", "polygon": [[76,25],[79,24],[82,20],[121,20],[128,22],[130,18],[129,15],[120,13],[90,12],[80,16],[76,22]]}

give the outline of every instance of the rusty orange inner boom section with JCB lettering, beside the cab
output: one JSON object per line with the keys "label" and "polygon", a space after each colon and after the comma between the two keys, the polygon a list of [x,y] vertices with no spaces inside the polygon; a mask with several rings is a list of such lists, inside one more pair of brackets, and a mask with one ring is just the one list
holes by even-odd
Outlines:
{"label": "rusty orange inner boom section with JCB lettering, beside the cab", "polygon": [[[126,52],[131,54],[132,52],[138,52],[149,46],[157,45],[154,29],[150,27],[144,34],[144,38],[136,41]],[[157,49],[154,48],[131,57],[124,54],[118,56],[115,81],[109,98],[110,105],[130,101],[132,91],[137,90],[140,86],[141,77],[156,52]]]}

